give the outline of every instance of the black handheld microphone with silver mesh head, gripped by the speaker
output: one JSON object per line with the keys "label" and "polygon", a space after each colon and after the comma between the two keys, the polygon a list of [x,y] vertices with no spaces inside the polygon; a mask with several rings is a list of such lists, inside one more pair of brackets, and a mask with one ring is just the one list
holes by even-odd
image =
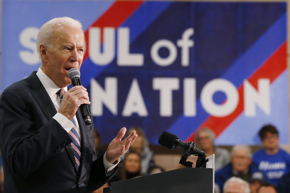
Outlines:
{"label": "black handheld microphone with silver mesh head, gripped by the speaker", "polygon": [[[67,76],[72,81],[72,86],[82,86],[81,79],[79,78],[81,76],[81,73],[77,68],[69,69]],[[91,112],[89,109],[89,105],[82,104],[79,108],[81,110],[82,118],[84,119],[85,124],[91,125],[92,120],[91,120]]]}

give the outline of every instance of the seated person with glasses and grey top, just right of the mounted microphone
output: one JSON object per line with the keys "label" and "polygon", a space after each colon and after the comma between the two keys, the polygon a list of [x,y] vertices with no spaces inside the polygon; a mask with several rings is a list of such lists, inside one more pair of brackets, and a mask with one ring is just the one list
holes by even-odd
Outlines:
{"label": "seated person with glasses and grey top, just right of the mounted microphone", "polygon": [[214,169],[218,171],[230,161],[230,153],[223,148],[214,147],[214,132],[209,128],[201,128],[195,135],[196,145],[206,153],[207,156],[214,155]]}

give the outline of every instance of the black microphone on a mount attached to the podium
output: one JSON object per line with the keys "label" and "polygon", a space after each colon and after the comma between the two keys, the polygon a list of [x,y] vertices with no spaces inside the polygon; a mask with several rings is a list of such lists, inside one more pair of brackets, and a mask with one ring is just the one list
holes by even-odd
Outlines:
{"label": "black microphone on a mount attached to the podium", "polygon": [[183,152],[183,156],[179,163],[185,165],[186,167],[192,165],[192,162],[186,162],[187,157],[190,155],[198,156],[195,167],[201,167],[205,161],[206,153],[195,148],[195,144],[192,141],[185,143],[176,135],[167,131],[163,131],[158,139],[158,143],[172,150],[181,150]]}

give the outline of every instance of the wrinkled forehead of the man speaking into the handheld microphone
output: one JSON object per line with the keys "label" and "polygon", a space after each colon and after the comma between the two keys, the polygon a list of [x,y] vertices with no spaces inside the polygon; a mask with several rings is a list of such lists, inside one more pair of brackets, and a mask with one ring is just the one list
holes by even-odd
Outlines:
{"label": "wrinkled forehead of the man speaking into the handheld microphone", "polygon": [[79,27],[57,26],[52,34],[53,43],[76,42],[77,46],[84,45],[84,32]]}

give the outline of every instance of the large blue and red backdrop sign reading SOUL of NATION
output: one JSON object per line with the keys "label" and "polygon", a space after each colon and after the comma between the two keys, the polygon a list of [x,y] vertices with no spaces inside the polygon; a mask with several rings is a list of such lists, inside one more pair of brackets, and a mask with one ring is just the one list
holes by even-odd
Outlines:
{"label": "large blue and red backdrop sign reading SOUL of NATION", "polygon": [[162,131],[216,144],[259,144],[268,123],[288,143],[286,3],[2,1],[1,92],[40,67],[39,28],[79,20],[81,68],[104,143],[140,125],[151,144]]}

